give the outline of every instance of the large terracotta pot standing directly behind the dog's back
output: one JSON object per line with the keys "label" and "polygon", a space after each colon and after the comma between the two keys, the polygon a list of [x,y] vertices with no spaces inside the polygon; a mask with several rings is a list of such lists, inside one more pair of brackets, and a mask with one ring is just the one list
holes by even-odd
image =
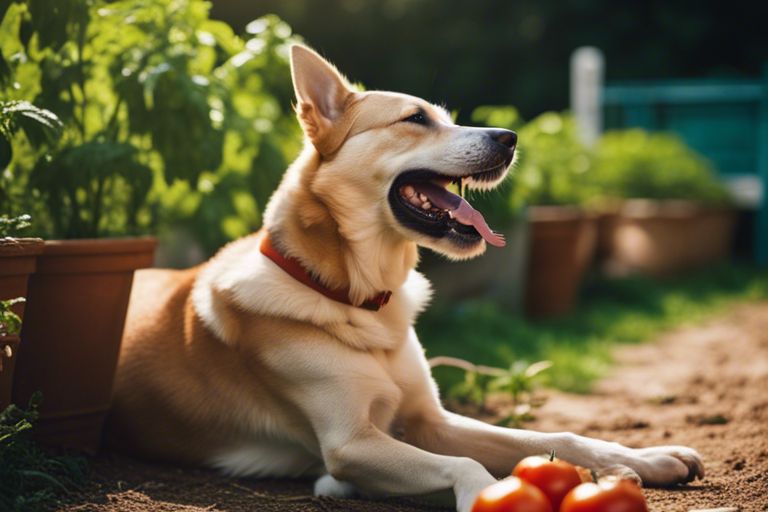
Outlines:
{"label": "large terracotta pot standing directly behind the dog's back", "polygon": [[98,449],[137,268],[156,240],[46,241],[29,280],[13,401],[42,391],[39,441]]}

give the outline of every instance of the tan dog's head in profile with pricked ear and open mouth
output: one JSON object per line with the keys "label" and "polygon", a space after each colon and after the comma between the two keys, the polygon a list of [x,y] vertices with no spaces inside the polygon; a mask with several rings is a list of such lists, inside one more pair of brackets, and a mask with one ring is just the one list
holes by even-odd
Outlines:
{"label": "tan dog's head in profile with pricked ear and open mouth", "polygon": [[291,50],[296,111],[321,155],[311,190],[340,232],[372,230],[465,259],[503,245],[451,184],[490,189],[506,176],[517,136],[457,126],[444,109],[391,92],[358,92],[313,51]]}

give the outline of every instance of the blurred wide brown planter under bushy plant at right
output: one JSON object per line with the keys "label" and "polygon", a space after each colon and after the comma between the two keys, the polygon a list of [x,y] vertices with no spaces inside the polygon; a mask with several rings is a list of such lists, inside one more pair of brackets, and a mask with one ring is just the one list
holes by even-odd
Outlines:
{"label": "blurred wide brown planter under bushy plant at right", "polygon": [[670,275],[726,259],[736,212],[688,201],[629,200],[612,219],[608,270]]}

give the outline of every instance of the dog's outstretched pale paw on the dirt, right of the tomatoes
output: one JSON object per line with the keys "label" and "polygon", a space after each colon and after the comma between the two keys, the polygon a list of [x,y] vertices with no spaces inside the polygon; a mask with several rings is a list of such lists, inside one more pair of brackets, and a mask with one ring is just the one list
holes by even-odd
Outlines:
{"label": "dog's outstretched pale paw on the dirt, right of the tomatoes", "polygon": [[698,452],[685,446],[653,446],[631,451],[625,462],[644,485],[667,486],[704,478],[704,463]]}

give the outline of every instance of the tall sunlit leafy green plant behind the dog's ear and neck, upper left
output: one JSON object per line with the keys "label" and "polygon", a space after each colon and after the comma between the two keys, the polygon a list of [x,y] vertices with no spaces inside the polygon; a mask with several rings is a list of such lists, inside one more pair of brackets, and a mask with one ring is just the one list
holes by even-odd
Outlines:
{"label": "tall sunlit leafy green plant behind the dog's ear and neck, upper left", "polygon": [[208,248],[258,227],[300,143],[285,115],[291,30],[266,17],[243,39],[210,20],[209,8],[202,0],[17,0],[7,9],[3,92],[63,123],[42,154],[15,141],[10,196],[17,212],[35,215],[39,234],[181,224]]}

